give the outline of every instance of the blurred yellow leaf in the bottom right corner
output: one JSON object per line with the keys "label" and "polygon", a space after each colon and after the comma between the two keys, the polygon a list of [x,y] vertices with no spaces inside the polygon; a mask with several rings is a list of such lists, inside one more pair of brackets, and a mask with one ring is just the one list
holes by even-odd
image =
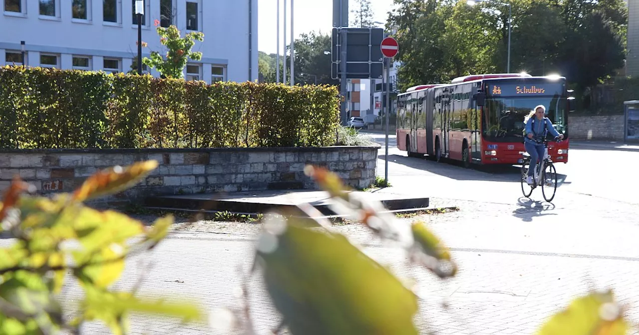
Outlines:
{"label": "blurred yellow leaf in the bottom right corner", "polygon": [[551,316],[537,335],[626,335],[627,321],[612,290],[590,292]]}

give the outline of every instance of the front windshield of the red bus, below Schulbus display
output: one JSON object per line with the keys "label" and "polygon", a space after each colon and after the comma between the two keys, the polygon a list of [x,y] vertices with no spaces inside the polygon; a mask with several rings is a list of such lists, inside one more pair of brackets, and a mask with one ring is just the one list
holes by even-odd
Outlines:
{"label": "front windshield of the red bus, below Schulbus display", "polygon": [[484,138],[495,142],[522,142],[524,119],[537,105],[546,107],[546,117],[559,133],[567,137],[566,98],[555,95],[486,99],[484,115],[482,115]]}

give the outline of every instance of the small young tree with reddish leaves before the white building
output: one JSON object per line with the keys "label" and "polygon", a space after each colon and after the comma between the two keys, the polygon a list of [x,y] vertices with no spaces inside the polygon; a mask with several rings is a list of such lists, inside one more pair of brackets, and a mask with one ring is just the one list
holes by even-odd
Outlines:
{"label": "small young tree with reddish leaves before the white building", "polygon": [[160,56],[157,51],[151,51],[151,58],[144,57],[142,63],[150,68],[157,68],[164,76],[169,78],[184,78],[184,67],[187,65],[187,59],[199,61],[202,59],[201,52],[193,52],[191,48],[195,45],[195,41],[204,41],[204,34],[194,31],[180,37],[180,31],[176,26],[158,27],[159,20],[155,20],[157,33],[160,35],[160,43],[166,45],[166,59]]}

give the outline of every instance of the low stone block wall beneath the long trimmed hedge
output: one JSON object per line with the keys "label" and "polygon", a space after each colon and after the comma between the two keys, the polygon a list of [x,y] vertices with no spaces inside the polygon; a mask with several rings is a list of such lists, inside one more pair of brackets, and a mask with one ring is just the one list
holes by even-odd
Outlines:
{"label": "low stone block wall beneath the long trimmed hedge", "polygon": [[378,147],[240,149],[24,149],[0,151],[0,191],[13,175],[43,194],[72,191],[98,169],[157,160],[146,180],[107,202],[217,191],[316,189],[304,167],[328,167],[355,188],[374,181]]}

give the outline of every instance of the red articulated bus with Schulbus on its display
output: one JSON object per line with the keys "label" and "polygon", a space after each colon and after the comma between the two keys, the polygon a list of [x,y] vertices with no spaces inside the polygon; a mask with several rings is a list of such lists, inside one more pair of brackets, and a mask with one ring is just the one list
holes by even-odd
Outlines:
{"label": "red articulated bus with Schulbus on its display", "polygon": [[451,84],[419,85],[397,95],[397,148],[470,164],[521,163],[524,118],[546,107],[564,141],[548,143],[555,162],[568,162],[566,78],[526,73],[469,75]]}

